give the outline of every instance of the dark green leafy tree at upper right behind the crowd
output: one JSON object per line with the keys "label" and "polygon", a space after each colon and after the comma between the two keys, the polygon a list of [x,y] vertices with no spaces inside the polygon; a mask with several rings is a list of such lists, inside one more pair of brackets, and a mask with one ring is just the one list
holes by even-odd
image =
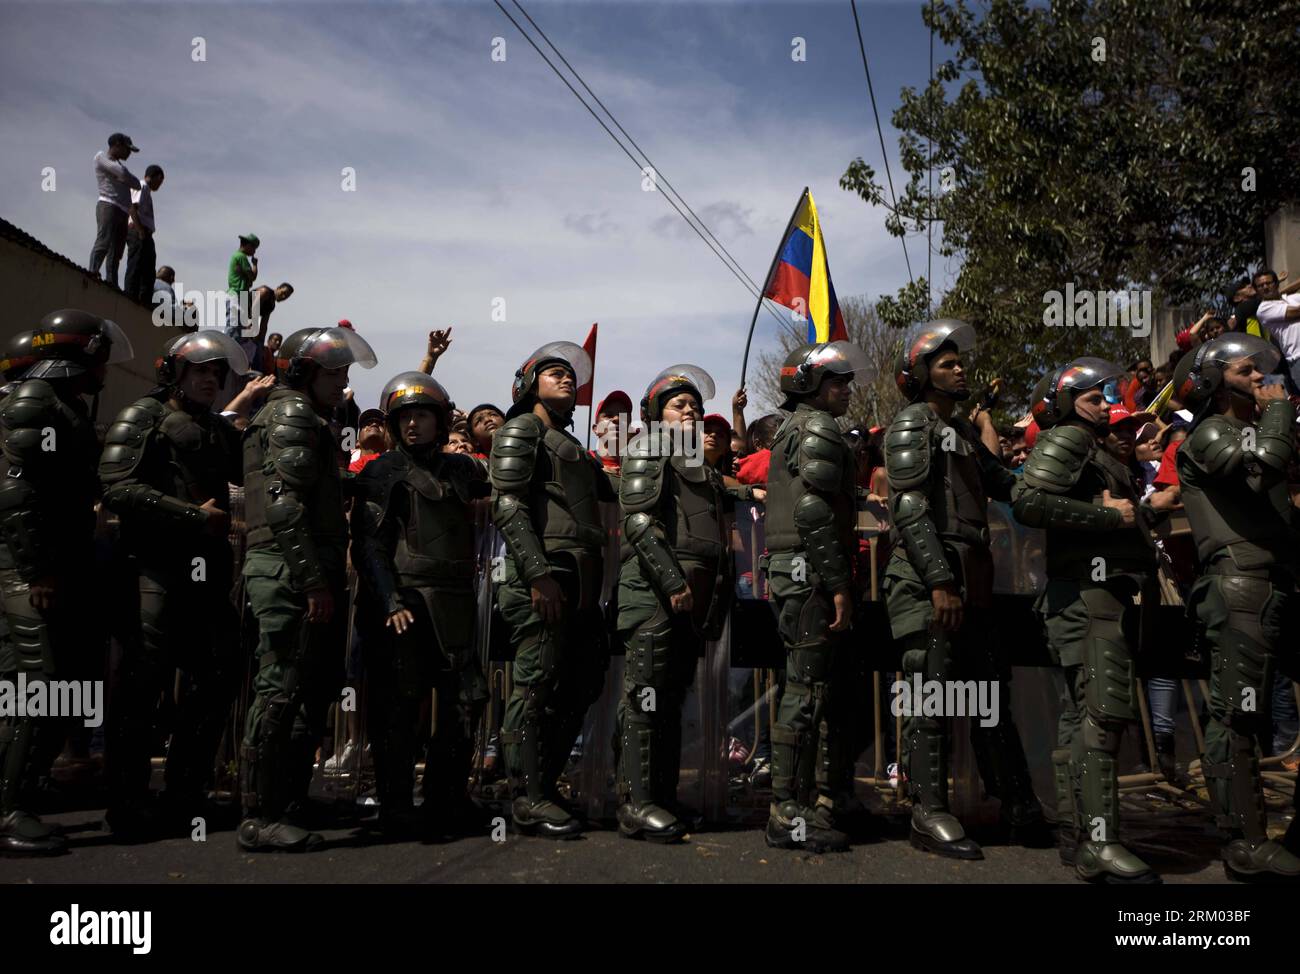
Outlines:
{"label": "dark green leafy tree at upper right behind the crowd", "polygon": [[[1300,198],[1297,13],[1295,0],[927,5],[952,56],[893,114],[910,177],[897,212],[861,159],[840,185],[890,209],[894,235],[933,222],[936,255],[961,263],[936,315],[976,326],[976,378],[996,363],[1023,403],[1065,359],[1145,351],[1121,329],[1046,328],[1045,293],[1213,303],[1262,261],[1264,221]],[[923,317],[924,295],[918,281],[881,298],[880,319]]]}

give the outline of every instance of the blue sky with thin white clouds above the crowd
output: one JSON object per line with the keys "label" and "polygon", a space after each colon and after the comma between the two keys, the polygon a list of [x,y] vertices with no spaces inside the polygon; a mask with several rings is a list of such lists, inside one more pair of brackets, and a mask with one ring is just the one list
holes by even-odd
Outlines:
{"label": "blue sky with thin white clouds above the crowd", "polygon": [[[525,7],[751,278],[807,185],[841,298],[906,282],[883,211],[838,189],[858,155],[883,178],[848,0]],[[858,4],[900,189],[889,116],[928,74],[920,7]],[[0,3],[0,216],[73,260],[94,239],[91,157],[121,130],[133,172],[166,172],[159,261],[221,289],[256,233],[263,280],[296,289],[276,330],[347,317],[374,345],[363,406],[430,328],[454,326],[436,376],[468,407],[507,404],[529,351],[599,321],[598,397],[690,362],[729,412],[753,298],[493,4]],[[777,328],[760,316],[755,355]]]}

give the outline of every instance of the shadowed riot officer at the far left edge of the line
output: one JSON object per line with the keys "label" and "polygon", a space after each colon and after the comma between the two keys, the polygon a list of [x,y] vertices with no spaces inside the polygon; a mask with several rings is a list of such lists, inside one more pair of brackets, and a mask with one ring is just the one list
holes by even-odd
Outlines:
{"label": "shadowed riot officer at the far left edge of the line", "polygon": [[[0,407],[8,475],[0,481],[0,592],[9,641],[0,679],[75,678],[99,644],[92,575],[99,442],[94,407],[110,363],[131,343],[108,319],[65,308],[42,319],[34,359]],[[31,792],[64,745],[66,720],[9,715],[0,723],[0,852],[62,850],[31,811]]]}

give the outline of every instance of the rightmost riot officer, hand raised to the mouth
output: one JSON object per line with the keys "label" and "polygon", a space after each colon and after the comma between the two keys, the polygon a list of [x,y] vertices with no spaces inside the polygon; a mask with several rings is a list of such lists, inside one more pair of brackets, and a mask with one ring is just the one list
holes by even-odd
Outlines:
{"label": "rightmost riot officer, hand raised to the mouth", "polygon": [[1287,490],[1296,410],[1283,386],[1264,384],[1279,358],[1262,338],[1227,334],[1184,355],[1174,371],[1178,398],[1196,411],[1176,463],[1204,572],[1190,602],[1212,653],[1201,767],[1228,836],[1223,862],[1244,879],[1300,876],[1300,826],[1291,823],[1290,849],[1269,839],[1258,761],[1269,678],[1275,670],[1300,678],[1295,635],[1283,632],[1296,598]]}

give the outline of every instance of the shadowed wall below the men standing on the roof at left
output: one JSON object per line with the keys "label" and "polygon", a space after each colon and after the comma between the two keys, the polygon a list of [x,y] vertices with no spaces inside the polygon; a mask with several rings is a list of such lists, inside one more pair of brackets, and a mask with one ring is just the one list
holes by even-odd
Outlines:
{"label": "shadowed wall below the men standing on the roof at left", "polygon": [[[122,273],[126,259],[122,259]],[[0,336],[35,328],[60,308],[81,308],[116,321],[131,339],[135,358],[110,365],[100,397],[99,421],[112,423],[127,403],[153,388],[153,359],[170,329],[156,328],[150,311],[94,278],[86,270],[48,254],[0,238],[0,294],[5,295]]]}

